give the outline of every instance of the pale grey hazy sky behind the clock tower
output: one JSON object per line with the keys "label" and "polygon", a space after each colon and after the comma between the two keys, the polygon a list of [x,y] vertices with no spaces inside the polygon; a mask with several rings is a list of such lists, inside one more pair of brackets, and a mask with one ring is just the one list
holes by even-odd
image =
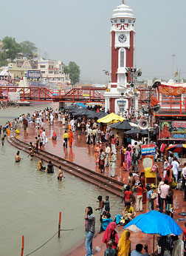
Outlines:
{"label": "pale grey hazy sky behind the clock tower", "polygon": [[[121,0],[1,1],[0,38],[30,40],[41,55],[75,61],[81,81],[103,83],[111,69],[110,18]],[[186,78],[186,0],[125,0],[137,18],[134,64],[142,78]],[[46,54],[47,53],[47,54]]]}

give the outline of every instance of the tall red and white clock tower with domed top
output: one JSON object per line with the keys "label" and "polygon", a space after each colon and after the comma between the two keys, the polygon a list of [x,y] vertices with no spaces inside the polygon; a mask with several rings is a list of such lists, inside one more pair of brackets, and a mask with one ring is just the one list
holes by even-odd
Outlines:
{"label": "tall red and white clock tower with domed top", "polygon": [[134,17],[133,10],[122,1],[111,17],[111,81],[105,92],[106,111],[118,113],[130,108],[126,95],[130,80],[128,67],[134,67]]}

